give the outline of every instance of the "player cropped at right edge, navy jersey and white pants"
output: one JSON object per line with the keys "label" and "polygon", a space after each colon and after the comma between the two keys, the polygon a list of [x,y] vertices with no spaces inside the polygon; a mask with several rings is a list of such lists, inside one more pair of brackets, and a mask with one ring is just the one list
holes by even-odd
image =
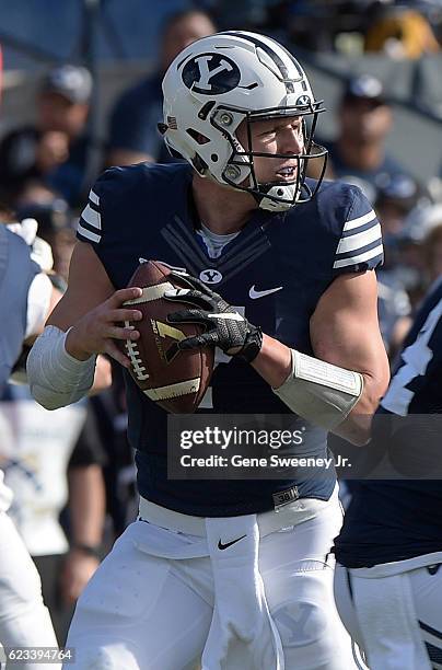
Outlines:
{"label": "player cropped at right edge, navy jersey and white pants", "polygon": [[[440,414],[442,278],[404,343],[373,421],[373,449],[380,440],[394,443],[404,465],[412,455],[405,471],[412,476],[422,459],[439,453]],[[427,477],[428,465],[439,463],[427,461]],[[438,480],[361,481],[354,488],[336,539],[336,593],[372,670],[442,667],[441,503]]]}

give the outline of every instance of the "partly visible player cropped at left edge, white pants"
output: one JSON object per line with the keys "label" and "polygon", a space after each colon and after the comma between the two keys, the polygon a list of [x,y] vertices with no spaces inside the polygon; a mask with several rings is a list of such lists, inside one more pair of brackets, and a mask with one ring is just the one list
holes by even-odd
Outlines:
{"label": "partly visible player cropped at left edge, white pants", "polygon": [[[16,232],[19,229],[16,224]],[[55,298],[51,282],[31,258],[23,235],[0,224],[0,386],[8,381],[23,342],[42,331]],[[37,569],[7,515],[11,500],[12,492],[0,470],[0,645],[56,648]],[[61,666],[23,660],[18,667],[36,670]]]}

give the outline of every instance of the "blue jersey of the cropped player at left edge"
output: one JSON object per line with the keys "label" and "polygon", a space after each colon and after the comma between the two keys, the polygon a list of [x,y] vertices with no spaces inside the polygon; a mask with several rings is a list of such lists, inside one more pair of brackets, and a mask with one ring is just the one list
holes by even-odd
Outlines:
{"label": "blue jersey of the cropped player at left edge", "polygon": [[22,349],[27,292],[39,272],[24,240],[0,223],[0,393]]}

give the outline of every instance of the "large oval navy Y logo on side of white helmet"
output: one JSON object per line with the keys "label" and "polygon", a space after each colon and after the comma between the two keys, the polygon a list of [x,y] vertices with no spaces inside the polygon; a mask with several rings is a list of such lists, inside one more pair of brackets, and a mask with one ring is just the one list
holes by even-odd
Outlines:
{"label": "large oval navy Y logo on side of white helmet", "polygon": [[240,80],[239,67],[223,54],[200,54],[190,58],[183,69],[186,86],[206,95],[232,91]]}

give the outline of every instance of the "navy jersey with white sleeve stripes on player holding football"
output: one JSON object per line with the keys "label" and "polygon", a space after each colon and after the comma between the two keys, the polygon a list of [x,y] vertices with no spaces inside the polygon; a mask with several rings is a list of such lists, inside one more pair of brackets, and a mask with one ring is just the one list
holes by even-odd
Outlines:
{"label": "navy jersey with white sleeve stripes on player holding football", "polygon": [[[221,255],[210,258],[196,233],[200,222],[191,177],[187,164],[107,171],[90,194],[79,239],[93,245],[116,288],[127,286],[140,257],[185,268],[243,308],[265,333],[312,354],[310,317],[333,279],[371,269],[382,258],[380,226],[369,203],[353,186],[326,183],[315,200],[288,212],[256,210]],[[293,485],[301,496],[330,496],[333,477],[167,481],[166,413],[126,378],[129,439],[137,449],[143,497],[185,513],[233,516],[270,509],[271,495]],[[209,411],[216,414],[289,412],[251,366],[235,359],[224,357],[218,365],[211,388]],[[309,455],[326,455],[325,437],[321,429],[307,428],[303,448]]]}

